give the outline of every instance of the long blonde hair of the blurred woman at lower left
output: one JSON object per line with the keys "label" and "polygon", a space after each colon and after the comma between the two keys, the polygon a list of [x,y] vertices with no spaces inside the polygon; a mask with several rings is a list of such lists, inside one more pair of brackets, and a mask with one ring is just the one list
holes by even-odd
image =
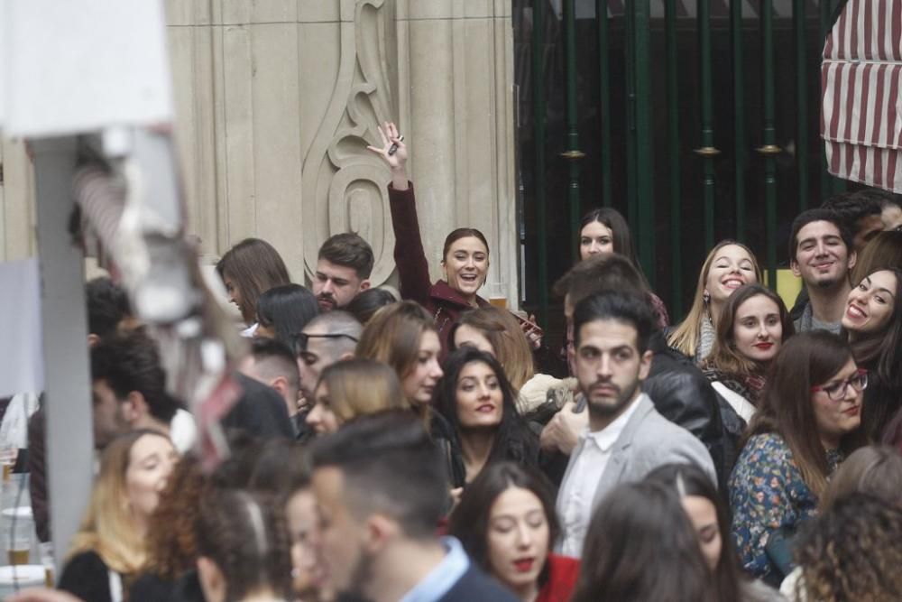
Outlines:
{"label": "long blonde hair of the blurred woman at lower left", "polygon": [[160,431],[141,430],[120,435],[111,441],[100,460],[100,474],[94,483],[85,518],[72,538],[68,558],[94,551],[110,570],[135,574],[147,561],[147,543],[129,511],[125,488],[132,448],[142,437],[169,440]]}

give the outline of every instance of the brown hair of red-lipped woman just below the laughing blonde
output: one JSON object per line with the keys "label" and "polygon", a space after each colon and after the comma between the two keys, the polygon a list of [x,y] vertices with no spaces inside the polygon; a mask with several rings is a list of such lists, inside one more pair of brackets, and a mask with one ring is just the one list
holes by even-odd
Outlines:
{"label": "brown hair of red-lipped woman just below the laughing blonde", "polygon": [[759,366],[736,351],[733,328],[736,324],[736,312],[739,311],[742,303],[759,295],[767,297],[777,304],[780,326],[783,327],[783,337],[780,339],[780,343],[786,342],[787,338],[795,334],[796,329],[793,326],[792,318],[789,317],[787,306],[776,292],[757,283],[743,284],[730,295],[721,310],[720,320],[717,320],[717,338],[714,339],[711,355],[705,358],[703,367],[711,367],[728,374],[742,376],[761,375],[765,371],[767,366]]}

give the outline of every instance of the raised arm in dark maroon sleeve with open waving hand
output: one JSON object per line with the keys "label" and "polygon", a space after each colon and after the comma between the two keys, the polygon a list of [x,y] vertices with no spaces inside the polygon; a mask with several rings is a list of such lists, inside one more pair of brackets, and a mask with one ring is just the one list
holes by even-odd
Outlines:
{"label": "raised arm in dark maroon sleeve with open waving hand", "polygon": [[[429,280],[429,264],[419,233],[413,185],[407,178],[407,145],[394,124],[386,123],[384,127],[378,127],[378,130],[382,146],[366,148],[380,155],[391,169],[389,206],[391,227],[395,235],[394,259],[400,277],[400,296],[401,299],[428,305],[432,282]],[[394,152],[392,148],[395,149]]]}

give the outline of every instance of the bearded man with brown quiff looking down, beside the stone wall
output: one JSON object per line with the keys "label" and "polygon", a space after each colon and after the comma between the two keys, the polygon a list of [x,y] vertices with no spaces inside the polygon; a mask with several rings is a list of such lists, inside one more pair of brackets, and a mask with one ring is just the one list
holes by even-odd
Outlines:
{"label": "bearded man with brown quiff looking down, beside the stone wall", "polygon": [[343,232],[319,247],[313,294],[322,311],[340,310],[370,288],[373,248],[361,236]]}

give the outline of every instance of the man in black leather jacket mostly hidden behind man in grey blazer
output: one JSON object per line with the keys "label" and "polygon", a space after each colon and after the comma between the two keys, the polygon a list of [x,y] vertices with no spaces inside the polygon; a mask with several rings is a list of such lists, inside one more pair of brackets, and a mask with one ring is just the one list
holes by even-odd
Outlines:
{"label": "man in black leather jacket mostly hidden behind man in grey blazer", "polygon": [[[604,291],[634,292],[642,295],[640,274],[630,261],[621,255],[594,255],[570,269],[556,284],[555,293],[564,297],[564,313],[567,323],[572,320],[573,309],[579,301]],[[568,328],[568,333],[569,333]],[[568,336],[568,343],[569,343]],[[649,377],[642,390],[649,394],[655,409],[667,420],[691,432],[704,443],[714,462],[719,485],[725,491],[732,464],[725,452],[731,438],[724,432],[717,393],[707,379],[690,361],[667,347],[664,337],[658,333],[652,337],[649,347],[654,354]],[[548,422],[542,432],[542,448],[569,455],[587,421],[575,417],[581,403],[567,404]],[[567,414],[566,412],[570,412]],[[549,461],[548,476],[556,482],[563,474],[560,468],[566,461]]]}

